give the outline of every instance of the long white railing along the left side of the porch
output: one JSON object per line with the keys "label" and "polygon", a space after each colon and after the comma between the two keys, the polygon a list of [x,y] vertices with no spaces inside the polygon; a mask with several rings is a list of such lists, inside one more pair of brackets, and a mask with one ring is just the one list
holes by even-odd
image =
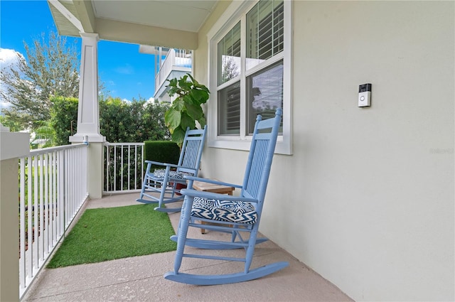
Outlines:
{"label": "long white railing along the left side of the porch", "polygon": [[87,149],[58,146],[19,158],[20,297],[87,200]]}

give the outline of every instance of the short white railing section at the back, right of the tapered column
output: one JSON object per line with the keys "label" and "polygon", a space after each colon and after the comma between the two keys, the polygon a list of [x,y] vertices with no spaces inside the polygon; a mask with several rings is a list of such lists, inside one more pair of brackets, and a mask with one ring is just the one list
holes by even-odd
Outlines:
{"label": "short white railing section at the back, right of the tapered column", "polygon": [[144,143],[105,143],[104,161],[104,194],[141,190]]}

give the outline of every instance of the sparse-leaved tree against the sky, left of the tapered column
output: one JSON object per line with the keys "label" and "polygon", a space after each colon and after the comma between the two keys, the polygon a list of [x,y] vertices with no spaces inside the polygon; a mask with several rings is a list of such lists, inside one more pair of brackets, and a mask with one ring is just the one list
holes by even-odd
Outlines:
{"label": "sparse-leaved tree against the sky, left of the tapered column", "polygon": [[0,72],[5,90],[0,97],[11,104],[3,109],[5,126],[20,125],[21,130],[36,130],[50,119],[50,97],[77,97],[79,94],[79,65],[76,45],[67,45],[66,38],[54,32],[24,42],[28,62],[18,55],[17,68]]}

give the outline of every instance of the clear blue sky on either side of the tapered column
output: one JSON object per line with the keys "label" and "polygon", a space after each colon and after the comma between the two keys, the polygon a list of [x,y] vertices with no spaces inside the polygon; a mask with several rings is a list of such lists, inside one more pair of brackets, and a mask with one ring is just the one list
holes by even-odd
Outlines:
{"label": "clear blue sky on either side of the tapered column", "polygon": [[[57,32],[47,1],[0,0],[0,48],[26,56],[23,41],[32,45],[41,33]],[[81,38],[67,37],[67,43]],[[139,45],[98,42],[98,76],[105,91],[121,99],[149,99],[154,95],[154,56],[139,53]]]}

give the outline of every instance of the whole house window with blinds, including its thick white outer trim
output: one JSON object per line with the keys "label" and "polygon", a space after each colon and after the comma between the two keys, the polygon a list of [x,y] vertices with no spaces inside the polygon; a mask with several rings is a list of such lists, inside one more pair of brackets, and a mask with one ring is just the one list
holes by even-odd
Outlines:
{"label": "whole house window with blinds, including its thick white outer trim", "polygon": [[208,32],[209,146],[249,150],[257,114],[283,110],[275,152],[292,153],[294,1],[232,1]]}

